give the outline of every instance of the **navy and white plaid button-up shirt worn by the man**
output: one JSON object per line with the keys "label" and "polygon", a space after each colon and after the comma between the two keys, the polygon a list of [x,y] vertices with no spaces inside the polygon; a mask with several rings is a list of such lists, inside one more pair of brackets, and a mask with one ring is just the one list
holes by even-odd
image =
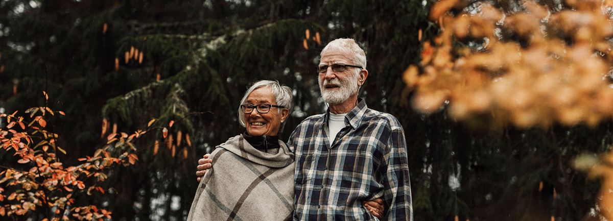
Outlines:
{"label": "navy and white plaid button-up shirt worn by the man", "polygon": [[294,130],[294,220],[377,220],[363,201],[383,198],[383,220],[413,220],[405,133],[391,114],[363,99],[345,116],[332,145],[329,111]]}

